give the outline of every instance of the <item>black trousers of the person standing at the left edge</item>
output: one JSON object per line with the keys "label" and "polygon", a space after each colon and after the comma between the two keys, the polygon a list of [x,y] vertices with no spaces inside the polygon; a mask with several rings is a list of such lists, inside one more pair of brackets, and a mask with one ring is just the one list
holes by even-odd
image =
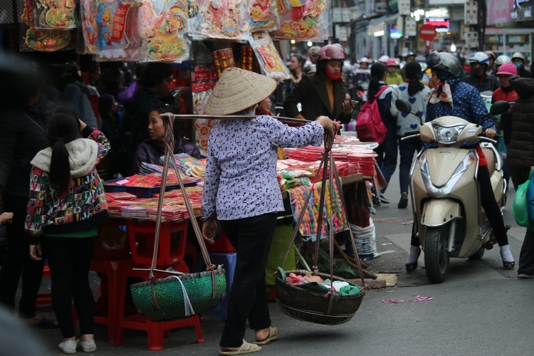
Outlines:
{"label": "black trousers of the person standing at the left edge", "polygon": [[2,249],[0,271],[0,303],[8,310],[15,310],[15,295],[22,275],[22,295],[19,303],[19,318],[33,318],[41,279],[43,261],[30,258],[30,243],[24,233],[28,198],[14,197],[4,192],[4,210],[13,213],[13,222],[6,224],[7,239]]}

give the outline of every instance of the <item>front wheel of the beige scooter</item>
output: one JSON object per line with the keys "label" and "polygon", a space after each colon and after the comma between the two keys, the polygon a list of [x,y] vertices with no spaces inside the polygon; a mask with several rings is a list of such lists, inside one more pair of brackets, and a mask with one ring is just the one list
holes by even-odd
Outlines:
{"label": "front wheel of the beige scooter", "polygon": [[447,253],[449,229],[449,224],[426,229],[424,236],[424,268],[426,277],[432,283],[445,281],[449,270],[449,254]]}

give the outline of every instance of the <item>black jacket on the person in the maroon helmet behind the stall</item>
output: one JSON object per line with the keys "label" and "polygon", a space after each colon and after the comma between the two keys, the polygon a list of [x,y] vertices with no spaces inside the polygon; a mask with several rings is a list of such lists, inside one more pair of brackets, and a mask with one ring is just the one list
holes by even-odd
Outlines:
{"label": "black jacket on the person in the maroon helmet behind the stall", "polygon": [[[295,89],[283,102],[283,109],[288,117],[295,117],[299,113],[306,120],[315,120],[324,115],[342,123],[350,121],[350,115],[343,113],[345,88],[341,79],[333,81],[334,110],[330,106],[330,98],[326,90],[325,80],[319,72],[304,75]],[[302,104],[302,112],[298,112],[297,104]]]}

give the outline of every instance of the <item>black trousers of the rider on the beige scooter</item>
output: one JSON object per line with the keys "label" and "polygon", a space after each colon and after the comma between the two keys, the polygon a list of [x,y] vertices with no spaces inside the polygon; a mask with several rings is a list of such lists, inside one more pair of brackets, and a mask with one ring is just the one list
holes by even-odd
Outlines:
{"label": "black trousers of the rider on the beige scooter", "polygon": [[[480,186],[481,205],[486,212],[491,227],[493,228],[497,243],[499,246],[508,245],[508,236],[506,236],[506,228],[504,227],[501,209],[499,209],[495,196],[493,195],[493,189],[491,188],[488,166],[478,167],[477,179],[478,185]],[[415,229],[412,229],[411,245],[419,246],[419,239],[415,236],[414,231]]]}

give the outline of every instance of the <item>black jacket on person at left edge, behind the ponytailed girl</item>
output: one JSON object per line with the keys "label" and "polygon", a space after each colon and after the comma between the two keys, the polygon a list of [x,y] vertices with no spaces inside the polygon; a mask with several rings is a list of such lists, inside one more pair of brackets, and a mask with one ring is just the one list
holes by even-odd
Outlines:
{"label": "black jacket on person at left edge, behind the ponytailed girl", "polygon": [[37,152],[50,146],[46,137],[46,119],[53,106],[41,94],[35,105],[1,110],[0,194],[28,199],[30,162]]}

